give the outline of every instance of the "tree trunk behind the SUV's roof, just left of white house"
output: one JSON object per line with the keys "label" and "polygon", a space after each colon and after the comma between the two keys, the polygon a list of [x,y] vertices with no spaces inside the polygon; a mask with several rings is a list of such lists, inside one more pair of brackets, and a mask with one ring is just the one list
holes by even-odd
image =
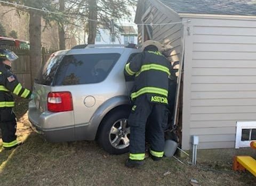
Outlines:
{"label": "tree trunk behind the SUV's roof, just left of white house", "polygon": [[88,36],[88,44],[95,43],[96,30],[97,30],[97,22],[91,20],[97,20],[97,1],[89,0],[89,36]]}

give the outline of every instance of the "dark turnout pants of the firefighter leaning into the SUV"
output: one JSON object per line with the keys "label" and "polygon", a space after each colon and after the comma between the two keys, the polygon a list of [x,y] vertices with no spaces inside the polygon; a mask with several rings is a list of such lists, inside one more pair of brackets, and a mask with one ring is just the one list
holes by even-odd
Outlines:
{"label": "dark turnout pants of the firefighter leaning into the SUV", "polygon": [[146,95],[139,96],[128,118],[130,126],[130,156],[132,160],[145,158],[145,131],[150,143],[150,154],[163,157],[166,105],[150,103]]}

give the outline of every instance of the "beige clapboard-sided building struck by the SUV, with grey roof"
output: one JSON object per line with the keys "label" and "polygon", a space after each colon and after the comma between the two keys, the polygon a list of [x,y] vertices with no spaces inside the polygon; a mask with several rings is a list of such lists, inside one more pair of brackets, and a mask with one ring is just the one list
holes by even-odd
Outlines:
{"label": "beige clapboard-sided building struck by the SUV, with grey roof", "polygon": [[135,23],[140,44],[160,41],[183,62],[182,149],[193,135],[199,149],[256,140],[254,0],[139,0]]}

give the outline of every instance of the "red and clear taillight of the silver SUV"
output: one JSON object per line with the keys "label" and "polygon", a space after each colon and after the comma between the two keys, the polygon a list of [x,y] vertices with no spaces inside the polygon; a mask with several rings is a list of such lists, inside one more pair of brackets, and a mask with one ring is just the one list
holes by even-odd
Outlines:
{"label": "red and clear taillight of the silver SUV", "polygon": [[72,95],[70,92],[49,92],[47,96],[48,111],[73,111]]}

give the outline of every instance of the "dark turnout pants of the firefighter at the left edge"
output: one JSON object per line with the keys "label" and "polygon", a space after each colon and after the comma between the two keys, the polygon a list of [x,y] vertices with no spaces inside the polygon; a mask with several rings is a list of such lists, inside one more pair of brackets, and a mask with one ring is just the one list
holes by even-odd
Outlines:
{"label": "dark turnout pants of the firefighter at the left edge", "polygon": [[13,147],[18,144],[15,136],[17,122],[12,108],[0,109],[0,129],[2,131],[3,147]]}

